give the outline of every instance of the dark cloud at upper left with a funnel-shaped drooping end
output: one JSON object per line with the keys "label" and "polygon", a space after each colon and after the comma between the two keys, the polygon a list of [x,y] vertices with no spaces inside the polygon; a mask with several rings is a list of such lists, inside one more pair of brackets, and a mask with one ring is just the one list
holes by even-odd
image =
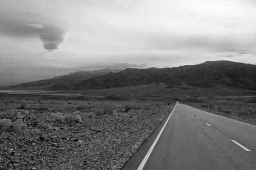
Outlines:
{"label": "dark cloud at upper left with a funnel-shaped drooping end", "polygon": [[0,23],[0,34],[16,38],[39,36],[48,51],[56,50],[67,38],[67,30],[53,24],[45,24],[45,19],[33,13],[6,15],[0,12]]}

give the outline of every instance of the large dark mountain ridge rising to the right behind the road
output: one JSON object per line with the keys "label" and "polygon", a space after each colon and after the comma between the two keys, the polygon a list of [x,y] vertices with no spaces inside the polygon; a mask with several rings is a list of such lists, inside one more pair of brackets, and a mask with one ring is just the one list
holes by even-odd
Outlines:
{"label": "large dark mountain ridge rising to the right behind the road", "polygon": [[165,83],[168,87],[239,87],[256,89],[256,66],[226,60],[173,68],[125,69],[72,83],[72,89],[108,89]]}

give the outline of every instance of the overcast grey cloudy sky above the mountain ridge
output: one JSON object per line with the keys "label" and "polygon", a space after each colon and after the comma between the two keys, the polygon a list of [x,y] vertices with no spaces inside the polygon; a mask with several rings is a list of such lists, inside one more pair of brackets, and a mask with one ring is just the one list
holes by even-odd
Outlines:
{"label": "overcast grey cloudy sky above the mountain ridge", "polygon": [[1,0],[0,83],[77,70],[256,64],[254,0]]}

